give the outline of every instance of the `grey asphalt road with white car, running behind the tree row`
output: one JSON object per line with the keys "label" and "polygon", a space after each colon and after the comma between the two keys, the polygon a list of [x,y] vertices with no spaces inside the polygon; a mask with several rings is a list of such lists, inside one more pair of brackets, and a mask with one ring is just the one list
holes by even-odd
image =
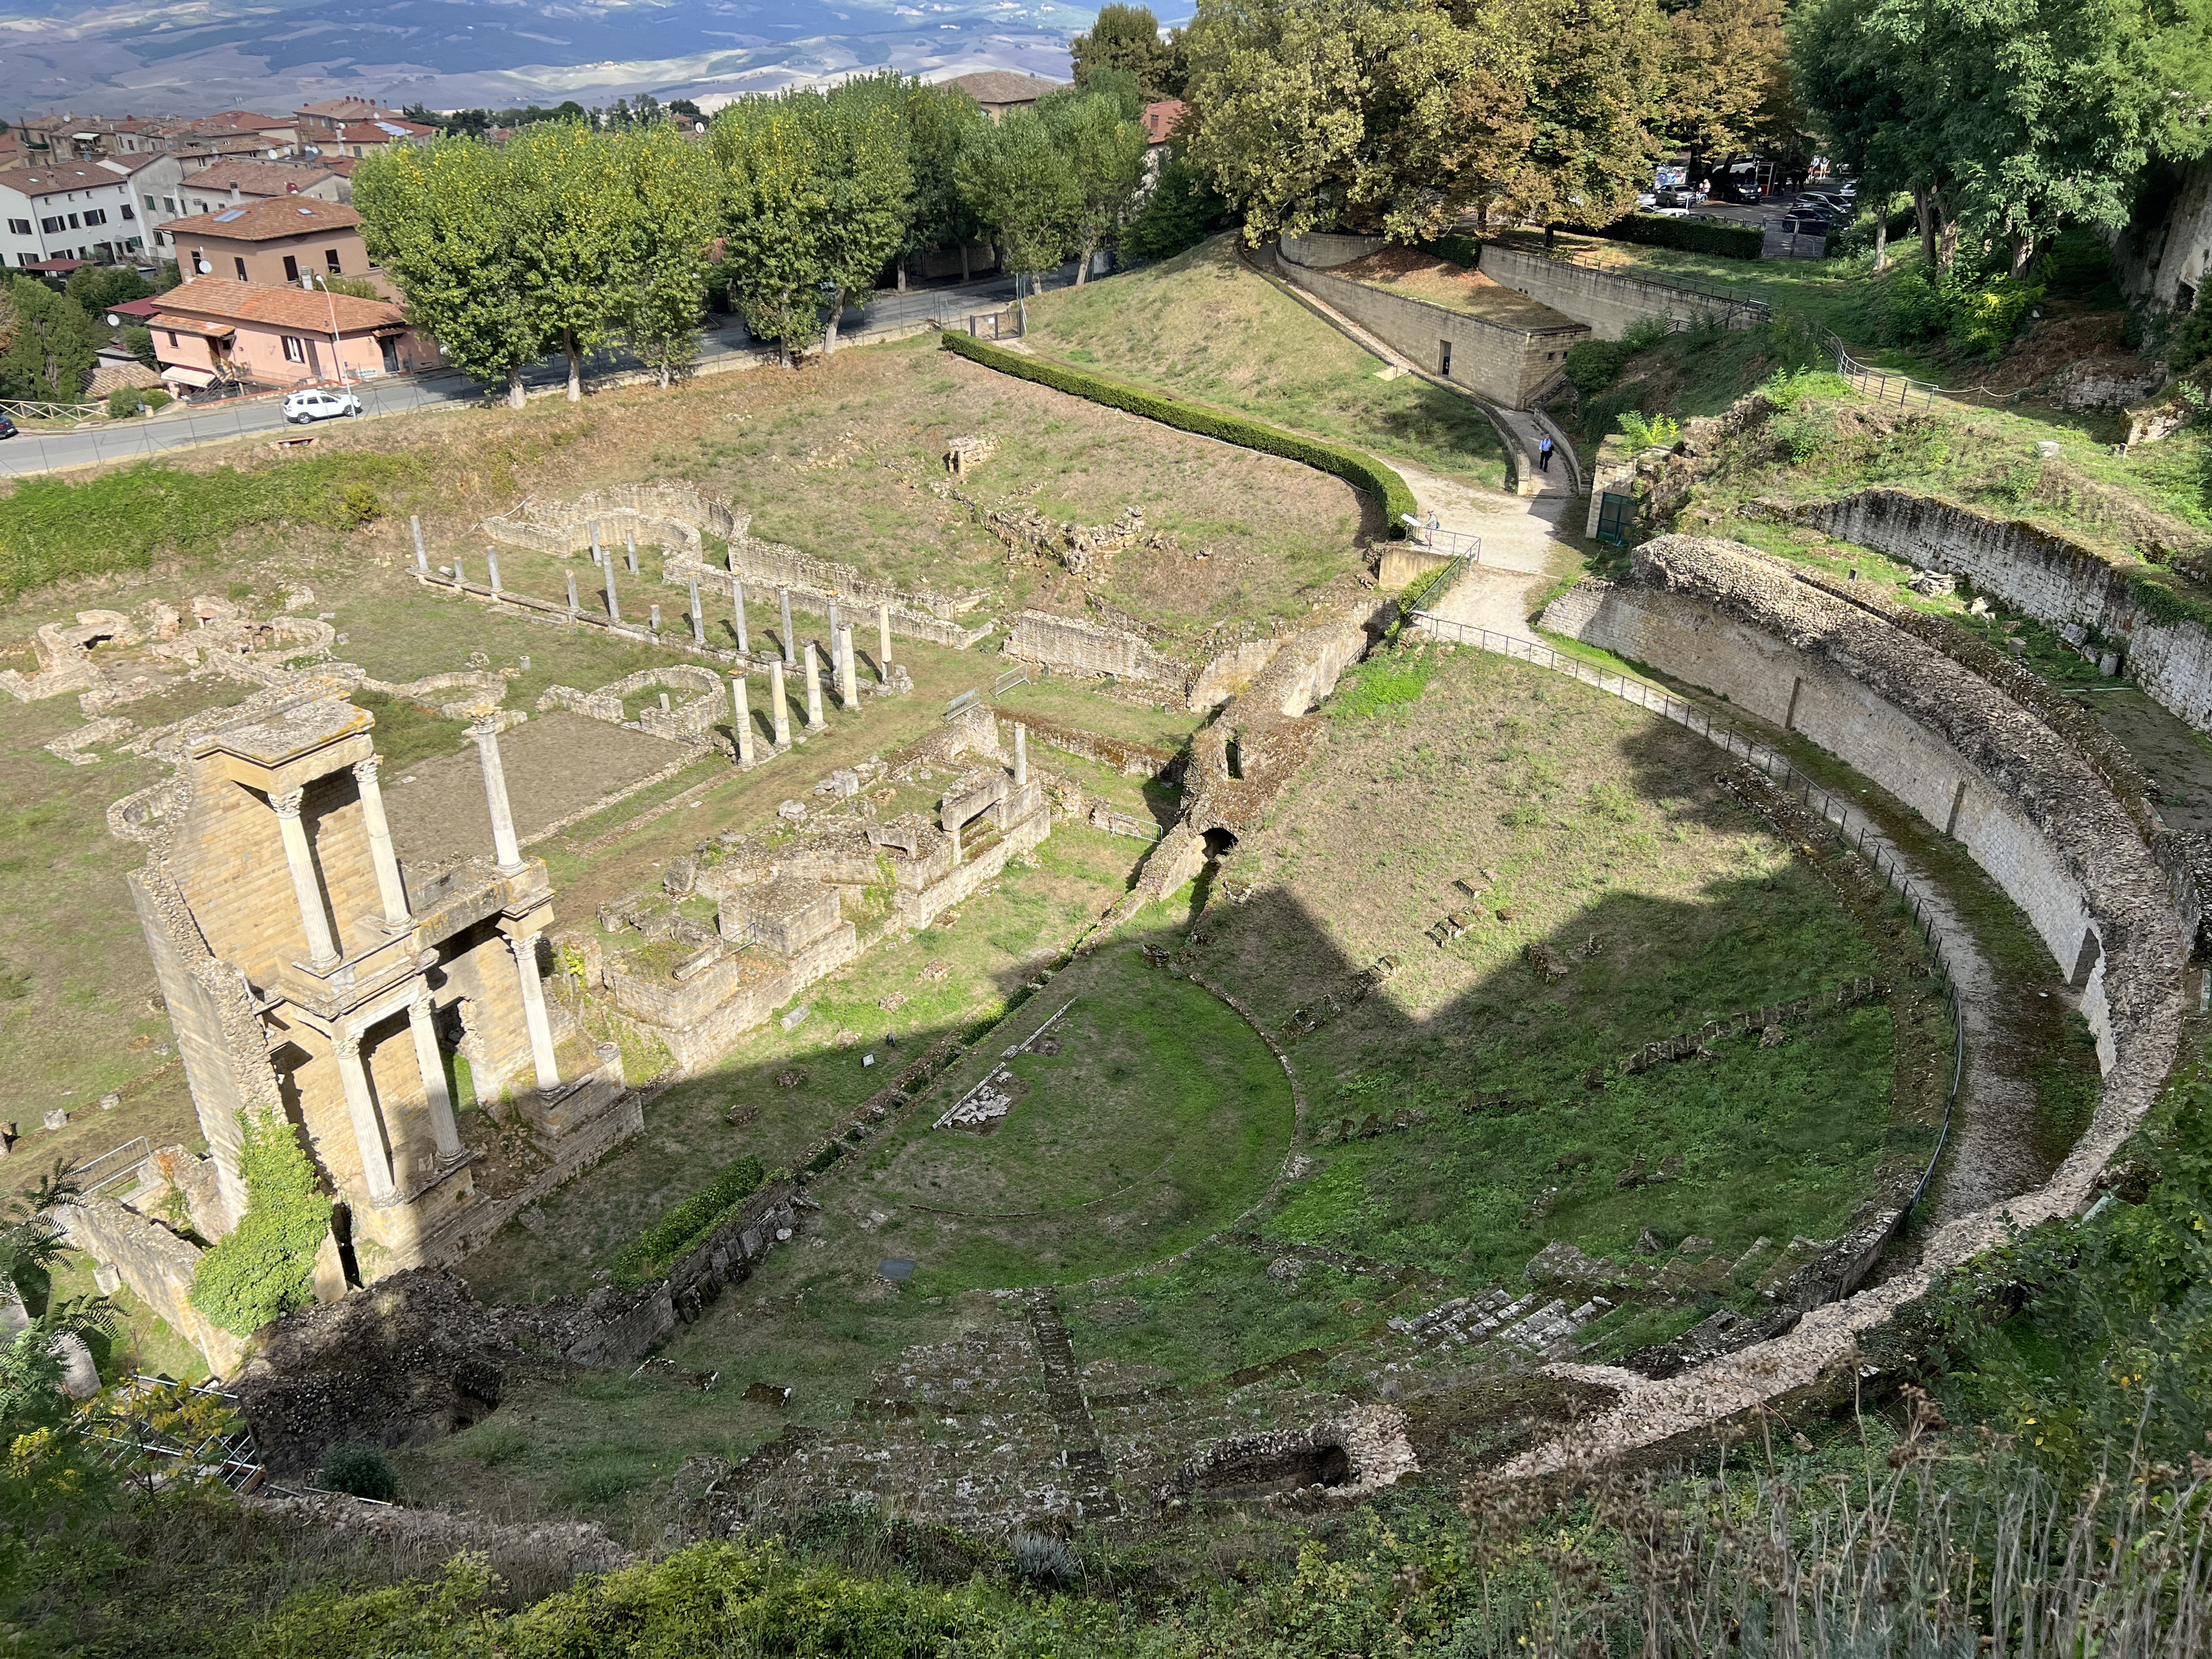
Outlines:
{"label": "grey asphalt road with white car, running behind the tree row", "polygon": [[[1066,265],[1046,276],[1044,288],[1066,288],[1073,281],[1075,265]],[[962,319],[973,312],[998,310],[1011,299],[1011,276],[991,276],[949,288],[916,288],[905,294],[874,294],[865,310],[845,312],[841,338],[909,327],[929,319]],[[699,374],[730,374],[774,361],[774,347],[759,345],[734,316],[717,316],[714,323],[717,327],[708,330],[699,349]],[[624,352],[597,352],[584,365],[586,383],[637,369],[637,361]],[[546,358],[531,365],[522,378],[533,394],[546,394],[566,385],[568,369],[562,358]],[[363,418],[372,420],[418,409],[460,411],[480,405],[487,396],[482,385],[458,369],[365,380],[356,389],[361,392]],[[18,438],[0,442],[0,476],[20,478],[64,471],[69,467],[144,460],[164,449],[188,445],[250,438],[257,434],[307,431],[305,427],[285,427],[279,403],[279,398],[265,396],[199,407],[175,405],[146,420],[119,420],[80,431],[24,431]]]}

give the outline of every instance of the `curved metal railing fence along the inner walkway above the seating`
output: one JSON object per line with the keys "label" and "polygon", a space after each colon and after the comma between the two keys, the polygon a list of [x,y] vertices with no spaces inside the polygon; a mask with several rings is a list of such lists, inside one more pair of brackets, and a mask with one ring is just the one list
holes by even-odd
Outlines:
{"label": "curved metal railing fence along the inner walkway above the seating", "polygon": [[1493,650],[1513,661],[1526,661],[1537,668],[1551,668],[1553,672],[1568,675],[1571,679],[1579,679],[1584,686],[1593,686],[1608,697],[1619,697],[1626,703],[1648,708],[1650,712],[1697,732],[1705,741],[1717,743],[1728,754],[1734,754],[1765,772],[1776,787],[1794,794],[1807,807],[1836,825],[1843,838],[1849,841],[1860,856],[1880,872],[1882,880],[1887,880],[1896,894],[1911,905],[1913,927],[1927,942],[1929,960],[1933,962],[1936,973],[1942,980],[1944,995],[1951,1002],[1951,1086],[1944,1093],[1942,1126],[1936,1133],[1936,1150],[1929,1155],[1927,1168],[1920,1172],[1911,1203],[1905,1206],[1905,1214],[1911,1214],[1920,1199],[1927,1197],[1929,1181],[1936,1177],[1936,1166],[1942,1161],[1944,1146],[1951,1144],[1951,1108],[1958,1104],[1958,1091],[1966,1077],[1966,1011],[1958,1000],[1958,978],[1951,971],[1951,940],[1942,927],[1936,925],[1936,907],[1907,874],[1905,863],[1898,858],[1889,838],[1863,812],[1836,794],[1829,794],[1770,745],[1739,732],[1732,726],[1714,723],[1712,714],[1705,710],[1683,701],[1681,697],[1670,697],[1657,686],[1630,679],[1628,675],[1606,672],[1595,664],[1577,661],[1575,657],[1537,644],[1535,639],[1517,639],[1513,635],[1493,633],[1491,628],[1453,622],[1451,617],[1440,617],[1431,611],[1413,611],[1409,622],[1413,628],[1438,639],[1453,639],[1458,644]]}

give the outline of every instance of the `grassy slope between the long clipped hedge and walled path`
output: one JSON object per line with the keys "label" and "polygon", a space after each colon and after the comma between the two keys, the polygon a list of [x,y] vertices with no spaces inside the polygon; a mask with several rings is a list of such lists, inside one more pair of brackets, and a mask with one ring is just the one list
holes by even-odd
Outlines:
{"label": "grassy slope between the long clipped hedge and walled path", "polygon": [[1504,489],[1504,451],[1482,409],[1413,376],[1378,380],[1378,358],[1245,270],[1230,237],[1113,283],[1033,299],[1029,345]]}

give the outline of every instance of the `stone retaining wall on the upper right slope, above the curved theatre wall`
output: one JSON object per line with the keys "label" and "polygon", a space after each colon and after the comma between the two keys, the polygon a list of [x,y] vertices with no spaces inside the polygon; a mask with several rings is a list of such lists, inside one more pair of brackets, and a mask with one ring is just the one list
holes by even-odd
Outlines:
{"label": "stone retaining wall on the upper right slope, above the curved theatre wall", "polygon": [[2037,622],[2073,622],[2121,641],[2128,672],[2146,692],[2197,730],[2212,730],[2212,630],[2201,622],[2154,619],[2126,571],[2079,542],[1898,489],[1865,489],[1803,507],[1798,515],[1907,564],[1955,571]]}

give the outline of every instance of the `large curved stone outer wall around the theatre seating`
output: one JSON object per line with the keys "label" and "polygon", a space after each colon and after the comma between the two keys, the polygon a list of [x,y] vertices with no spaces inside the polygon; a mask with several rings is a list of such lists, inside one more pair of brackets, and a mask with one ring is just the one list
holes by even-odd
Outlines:
{"label": "large curved stone outer wall around the theatre seating", "polygon": [[[2042,1188],[1936,1228],[1920,1259],[1874,1290],[1816,1307],[1787,1336],[1666,1380],[1562,1365],[1617,1402],[1515,1458],[1531,1475],[1690,1447],[1717,1425],[1794,1391],[1849,1391],[1858,1336],[2013,1228],[2079,1212],[2157,1102],[2179,1048],[2183,918],[2126,807],[2057,732],[1880,615],[1794,577],[1752,549],[1688,535],[1648,542],[1619,586],[1586,584],[1544,615],[1573,633],[1787,723],[1955,834],[2073,971],[2101,947],[2081,1009],[2104,1093],[2088,1130]],[[1794,708],[1792,708],[1794,706]],[[1962,790],[1964,785],[1964,790]]]}

